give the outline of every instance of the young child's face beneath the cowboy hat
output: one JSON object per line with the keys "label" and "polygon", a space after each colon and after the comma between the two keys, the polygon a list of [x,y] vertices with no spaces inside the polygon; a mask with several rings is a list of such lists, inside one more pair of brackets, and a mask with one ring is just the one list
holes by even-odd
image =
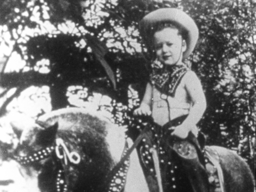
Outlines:
{"label": "young child's face beneath the cowboy hat", "polygon": [[185,40],[178,35],[178,29],[167,27],[154,34],[155,53],[166,65],[182,63],[182,53],[187,49]]}

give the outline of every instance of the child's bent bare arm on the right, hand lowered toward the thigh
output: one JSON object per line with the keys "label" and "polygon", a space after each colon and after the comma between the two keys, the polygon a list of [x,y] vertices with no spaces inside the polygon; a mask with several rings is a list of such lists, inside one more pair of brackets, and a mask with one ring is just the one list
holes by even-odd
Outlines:
{"label": "child's bent bare arm on the right, hand lowered toward the thigh", "polygon": [[202,118],[206,109],[206,98],[202,89],[200,80],[192,71],[187,72],[184,76],[184,89],[187,91],[188,96],[192,101],[192,107],[189,111],[188,117],[184,122],[175,127],[172,135],[180,138],[186,138],[189,131],[196,126],[198,121]]}

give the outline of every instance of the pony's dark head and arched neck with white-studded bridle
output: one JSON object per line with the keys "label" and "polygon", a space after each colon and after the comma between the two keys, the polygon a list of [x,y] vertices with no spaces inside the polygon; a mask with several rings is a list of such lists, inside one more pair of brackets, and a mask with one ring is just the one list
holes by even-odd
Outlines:
{"label": "pony's dark head and arched neck with white-studded bridle", "polygon": [[103,191],[121,159],[125,129],[84,109],[61,109],[29,127],[11,123],[20,142],[14,158],[36,191]]}

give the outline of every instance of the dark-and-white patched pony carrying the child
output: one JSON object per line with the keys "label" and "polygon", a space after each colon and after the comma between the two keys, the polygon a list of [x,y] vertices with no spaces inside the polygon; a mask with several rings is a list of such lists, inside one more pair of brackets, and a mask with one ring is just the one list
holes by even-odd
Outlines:
{"label": "dark-and-white patched pony carrying the child", "polygon": [[[135,150],[127,155],[134,146],[125,137],[126,128],[101,112],[66,108],[46,113],[28,127],[15,121],[11,124],[20,141],[13,158],[34,186],[31,191],[159,191],[146,181],[147,167],[139,159],[142,154],[138,148],[139,157]],[[225,192],[255,190],[253,174],[244,159],[224,147],[205,148],[218,156]],[[195,192],[185,181],[185,191]]]}

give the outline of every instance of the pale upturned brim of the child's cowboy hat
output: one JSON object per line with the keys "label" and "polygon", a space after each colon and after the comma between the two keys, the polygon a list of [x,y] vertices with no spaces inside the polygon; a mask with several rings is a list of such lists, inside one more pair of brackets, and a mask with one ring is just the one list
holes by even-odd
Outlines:
{"label": "pale upturned brim of the child's cowboy hat", "polygon": [[139,30],[142,38],[148,41],[149,31],[159,22],[174,22],[188,31],[186,40],[187,49],[183,53],[183,59],[187,58],[194,50],[199,36],[199,31],[194,20],[185,12],[177,8],[161,8],[150,12],[139,23]]}

